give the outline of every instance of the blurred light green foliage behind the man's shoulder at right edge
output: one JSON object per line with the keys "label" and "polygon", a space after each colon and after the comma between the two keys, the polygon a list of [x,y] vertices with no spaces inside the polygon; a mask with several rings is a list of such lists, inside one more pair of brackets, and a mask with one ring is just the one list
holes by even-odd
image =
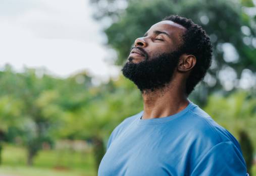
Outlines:
{"label": "blurred light green foliage behind the man's shoulder at right edge", "polygon": [[213,94],[204,110],[221,126],[229,130],[236,139],[240,131],[246,130],[256,146],[256,99],[253,91],[238,91],[228,96]]}

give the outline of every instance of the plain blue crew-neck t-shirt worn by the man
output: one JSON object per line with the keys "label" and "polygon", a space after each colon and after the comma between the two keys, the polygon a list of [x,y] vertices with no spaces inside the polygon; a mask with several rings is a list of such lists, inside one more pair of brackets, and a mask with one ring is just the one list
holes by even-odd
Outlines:
{"label": "plain blue crew-neck t-shirt worn by the man", "polygon": [[112,132],[98,176],[246,176],[237,140],[189,102],[164,118],[126,118]]}

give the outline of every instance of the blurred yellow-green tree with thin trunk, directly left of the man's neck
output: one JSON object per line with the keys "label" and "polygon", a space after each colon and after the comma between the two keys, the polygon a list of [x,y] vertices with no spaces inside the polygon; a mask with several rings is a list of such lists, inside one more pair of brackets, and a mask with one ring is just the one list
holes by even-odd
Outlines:
{"label": "blurred yellow-green tree with thin trunk, directly left of the man's neck", "polygon": [[[87,92],[91,97],[66,113],[66,125],[59,133],[62,138],[90,140],[97,171],[111,132],[125,118],[141,110],[142,101],[140,92],[124,77],[91,87]],[[124,99],[124,95],[128,96]]]}

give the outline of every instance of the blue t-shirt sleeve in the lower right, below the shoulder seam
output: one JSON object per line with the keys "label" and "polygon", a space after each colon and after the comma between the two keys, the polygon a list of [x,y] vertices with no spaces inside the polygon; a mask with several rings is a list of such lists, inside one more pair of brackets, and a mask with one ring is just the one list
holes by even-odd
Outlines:
{"label": "blue t-shirt sleeve in the lower right, below the shoulder seam", "polygon": [[196,164],[191,176],[249,176],[242,152],[231,142],[221,142],[209,150]]}

